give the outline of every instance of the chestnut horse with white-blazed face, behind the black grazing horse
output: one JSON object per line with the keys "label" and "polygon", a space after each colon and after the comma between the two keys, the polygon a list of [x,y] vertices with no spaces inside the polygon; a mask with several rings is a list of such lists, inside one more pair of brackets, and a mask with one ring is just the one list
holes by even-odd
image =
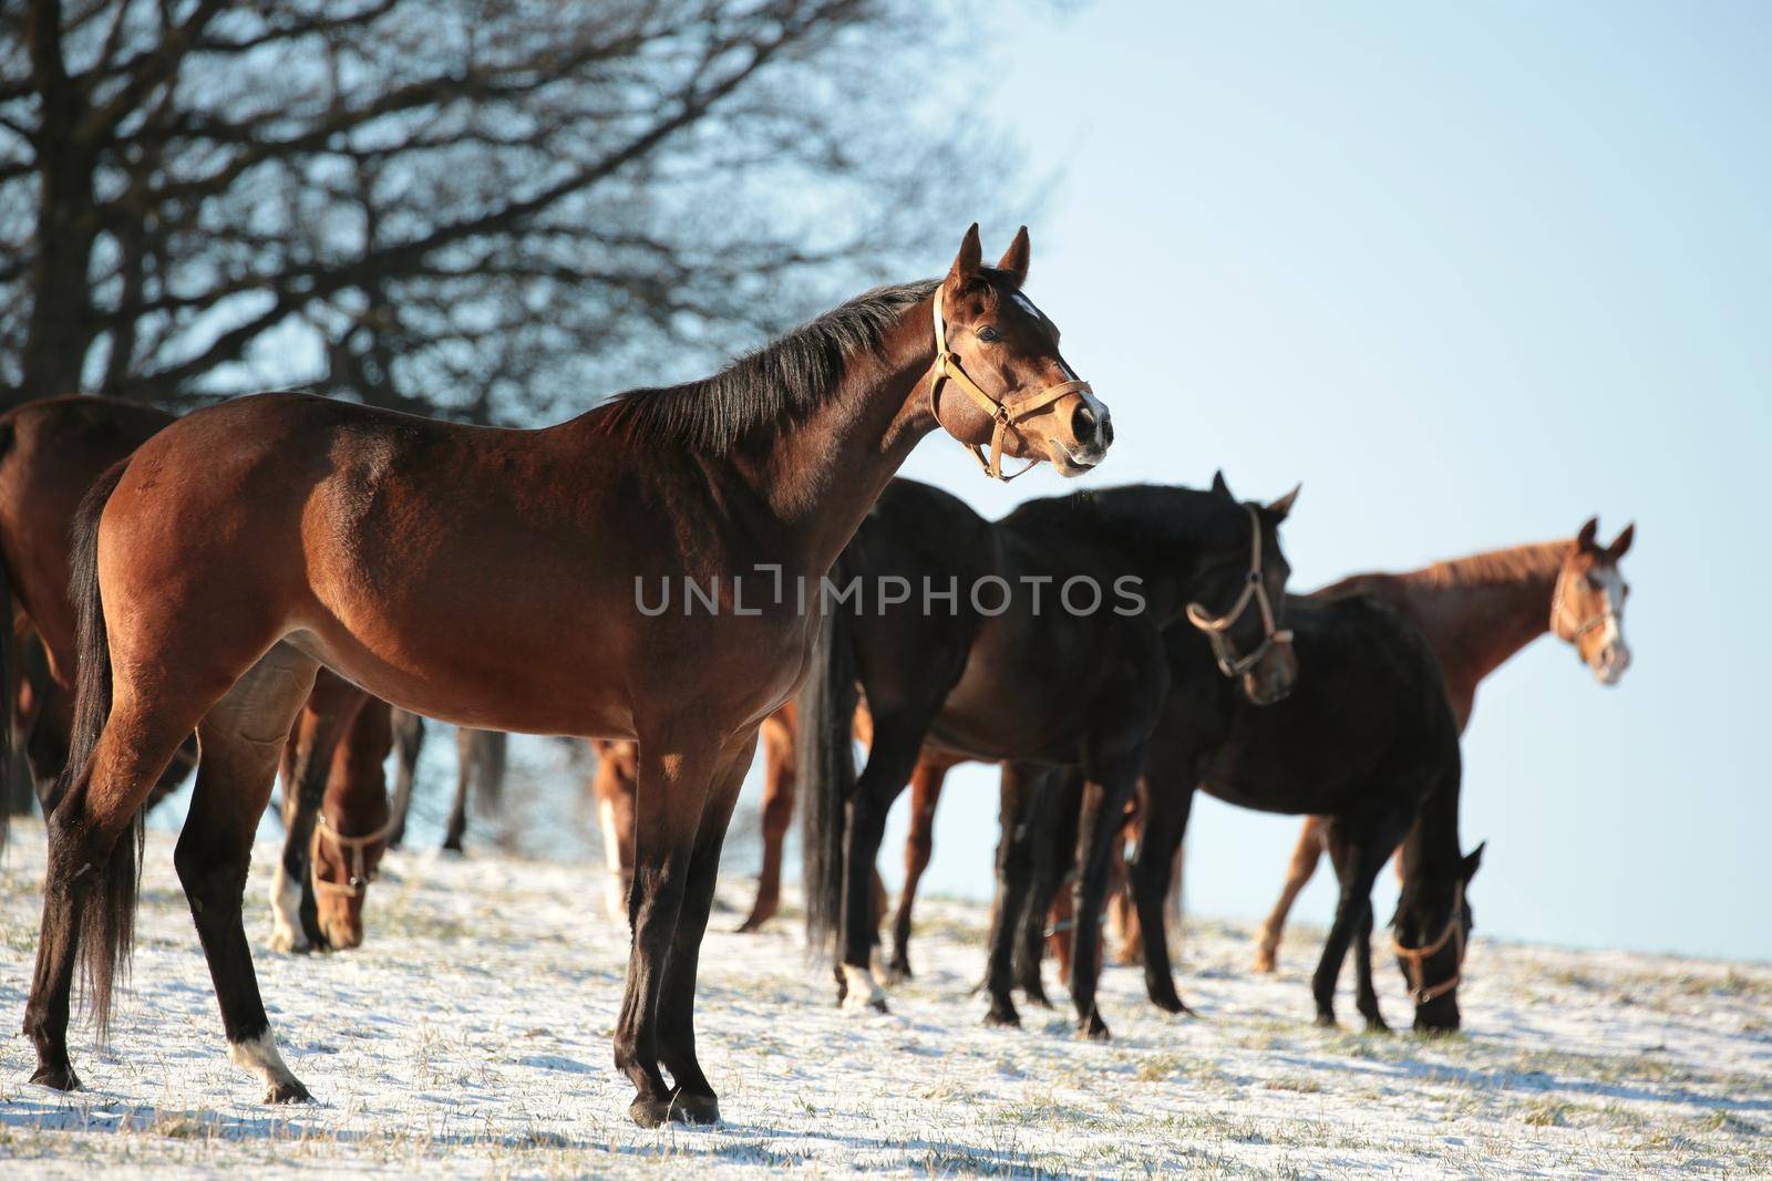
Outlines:
{"label": "chestnut horse with white-blazed face, behind the black grazing horse", "polygon": [[[1625,526],[1611,545],[1598,544],[1598,529],[1595,517],[1572,542],[1497,549],[1407,574],[1356,574],[1315,597],[1372,595],[1412,620],[1439,659],[1462,735],[1483,678],[1545,632],[1572,645],[1602,685],[1616,685],[1625,675],[1630,666],[1625,643],[1630,586],[1618,561],[1630,549],[1636,526]],[[1317,873],[1327,839],[1325,816],[1304,822],[1279,901],[1256,935],[1256,972],[1274,970],[1286,914]]]}

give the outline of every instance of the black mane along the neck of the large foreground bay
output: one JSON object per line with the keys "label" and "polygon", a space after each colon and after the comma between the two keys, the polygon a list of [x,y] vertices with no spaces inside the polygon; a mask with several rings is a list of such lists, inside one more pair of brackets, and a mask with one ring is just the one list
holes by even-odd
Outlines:
{"label": "black mane along the neck of the large foreground bay", "polygon": [[877,352],[941,280],[875,287],[702,381],[629,390],[599,407],[611,432],[721,455],[764,425],[801,421],[836,391],[849,361]]}

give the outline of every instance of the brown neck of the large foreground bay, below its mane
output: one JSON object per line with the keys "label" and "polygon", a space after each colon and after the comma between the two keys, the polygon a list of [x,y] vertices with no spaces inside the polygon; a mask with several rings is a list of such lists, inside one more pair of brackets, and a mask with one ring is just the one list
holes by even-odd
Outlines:
{"label": "brown neck of the large foreground bay, below its mane", "polygon": [[727,462],[780,522],[783,560],[822,575],[861,528],[911,448],[936,428],[927,377],[936,361],[932,297],[904,313],[872,356],[804,421],[760,432]]}

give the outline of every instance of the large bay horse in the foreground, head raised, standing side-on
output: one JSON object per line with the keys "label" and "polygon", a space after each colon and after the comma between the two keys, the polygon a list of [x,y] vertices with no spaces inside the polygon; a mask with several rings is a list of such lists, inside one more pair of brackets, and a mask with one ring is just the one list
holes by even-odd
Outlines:
{"label": "large bay horse in the foreground, head raised, standing side-on", "polygon": [[[89,496],[74,545],[82,675],[25,1011],[34,1080],[78,1085],[80,960],[106,1027],[136,901],[128,830],[197,729],[175,864],[230,1057],[268,1101],[307,1098],[239,903],[278,749],[326,666],[457,726],[638,740],[615,1062],[636,1123],[716,1121],[693,1015],[719,846],[757,728],[817,636],[766,586],[810,581],[822,598],[868,506],[937,427],[992,476],[1005,457],[1079,475],[1111,443],[1106,407],[1021,292],[1028,257],[1022,228],[987,267],[975,225],[941,280],[877,289],[711,379],[540,430],[280,393],[142,444]],[[645,588],[673,583],[711,606],[654,613]]]}

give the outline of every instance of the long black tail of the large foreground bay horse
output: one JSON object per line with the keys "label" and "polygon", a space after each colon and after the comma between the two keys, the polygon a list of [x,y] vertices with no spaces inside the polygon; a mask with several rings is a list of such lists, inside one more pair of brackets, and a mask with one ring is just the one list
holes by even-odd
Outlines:
{"label": "long black tail of the large foreground bay horse", "polygon": [[[76,646],[74,728],[67,745],[67,767],[50,800],[50,875],[66,875],[82,882],[85,910],[80,919],[80,963],[87,997],[92,1006],[92,1023],[99,1041],[110,1027],[112,990],[119,976],[129,970],[129,949],[135,944],[135,905],[142,887],[142,811],[129,818],[129,832],[112,843],[103,864],[73,864],[82,857],[85,834],[87,788],[92,783],[92,749],[105,729],[112,706],[110,637],[105,632],[105,607],[99,602],[99,517],[105,503],[122,480],[124,464],[106,471],[74,515],[73,551],[69,554],[67,593],[80,621]],[[66,937],[66,933],[64,933]]]}

